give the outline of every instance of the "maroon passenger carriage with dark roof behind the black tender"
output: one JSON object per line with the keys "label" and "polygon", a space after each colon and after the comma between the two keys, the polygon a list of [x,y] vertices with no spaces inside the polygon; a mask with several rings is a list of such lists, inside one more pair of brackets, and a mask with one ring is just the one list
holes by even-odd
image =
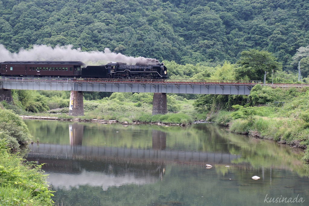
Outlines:
{"label": "maroon passenger carriage with dark roof behind the black tender", "polygon": [[5,61],[3,77],[80,77],[85,64],[81,61]]}

